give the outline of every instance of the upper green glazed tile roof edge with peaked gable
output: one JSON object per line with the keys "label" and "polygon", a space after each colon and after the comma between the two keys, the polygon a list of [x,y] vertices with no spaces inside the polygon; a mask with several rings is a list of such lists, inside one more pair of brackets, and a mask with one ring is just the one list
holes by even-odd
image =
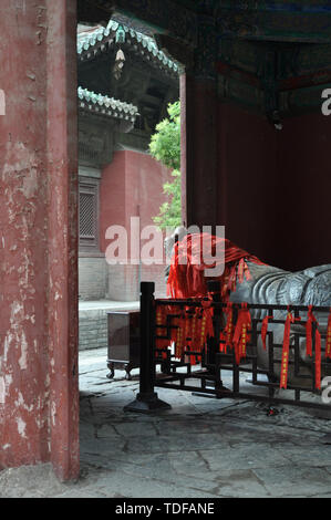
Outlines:
{"label": "upper green glazed tile roof edge with peaked gable", "polygon": [[125,32],[125,43],[131,44],[136,51],[151,58],[153,56],[159,66],[179,73],[178,65],[163,51],[159,51],[154,39],[133,30],[115,20],[111,20],[106,28],[97,28],[94,31],[77,34],[77,54],[84,58],[93,58],[100,50],[105,51],[108,45],[115,43],[115,33],[120,29]]}

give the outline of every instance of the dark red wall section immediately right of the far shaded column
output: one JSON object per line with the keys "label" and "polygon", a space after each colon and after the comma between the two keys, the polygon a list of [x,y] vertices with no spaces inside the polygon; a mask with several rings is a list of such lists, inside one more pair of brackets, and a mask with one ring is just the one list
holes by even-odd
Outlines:
{"label": "dark red wall section immediately right of the far shaded column", "polygon": [[[242,249],[268,254],[268,210],[273,204],[276,135],[255,114],[219,107],[219,222],[226,236]],[[271,201],[266,194],[271,194]],[[272,208],[270,208],[272,211]]]}

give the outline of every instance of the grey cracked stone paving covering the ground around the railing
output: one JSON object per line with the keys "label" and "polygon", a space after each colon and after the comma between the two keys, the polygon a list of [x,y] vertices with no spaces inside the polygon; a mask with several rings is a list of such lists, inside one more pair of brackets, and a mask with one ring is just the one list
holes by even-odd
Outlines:
{"label": "grey cracked stone paving covering the ground around the railing", "polygon": [[[0,474],[0,497],[331,498],[331,420],[294,407],[156,388],[172,410],[124,413],[137,371],[106,378],[106,349],[80,354],[81,478],[49,465]],[[246,376],[247,377],[247,376]]]}

